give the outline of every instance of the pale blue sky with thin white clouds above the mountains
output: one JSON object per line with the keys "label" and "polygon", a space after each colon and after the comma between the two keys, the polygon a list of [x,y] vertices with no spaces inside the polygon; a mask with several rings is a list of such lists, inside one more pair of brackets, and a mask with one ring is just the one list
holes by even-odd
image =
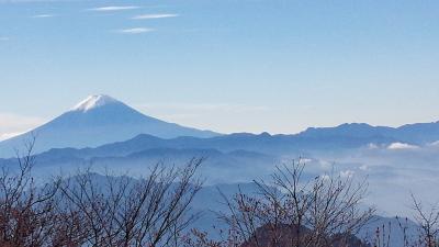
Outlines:
{"label": "pale blue sky with thin white clouds above the mountains", "polygon": [[223,133],[438,121],[438,44],[428,0],[0,0],[0,138],[94,93]]}

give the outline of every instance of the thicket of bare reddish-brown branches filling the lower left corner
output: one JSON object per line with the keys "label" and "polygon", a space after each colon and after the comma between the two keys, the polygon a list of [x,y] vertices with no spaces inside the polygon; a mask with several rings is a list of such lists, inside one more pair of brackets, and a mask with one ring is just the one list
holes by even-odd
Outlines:
{"label": "thicket of bare reddish-brown branches filling the lower left corner", "polygon": [[143,179],[86,169],[37,187],[33,144],[19,156],[18,172],[1,170],[0,246],[179,246],[196,217],[190,204],[202,186],[195,171],[203,159],[156,165]]}

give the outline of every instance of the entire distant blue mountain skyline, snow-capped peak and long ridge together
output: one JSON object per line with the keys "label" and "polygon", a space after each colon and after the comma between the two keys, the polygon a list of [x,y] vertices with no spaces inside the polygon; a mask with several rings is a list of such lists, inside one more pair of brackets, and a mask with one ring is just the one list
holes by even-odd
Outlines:
{"label": "entire distant blue mountain skyline, snow-capped peak and long ridge together", "polygon": [[126,156],[154,148],[285,155],[358,148],[369,144],[425,145],[439,141],[439,122],[396,128],[352,123],[336,127],[309,127],[293,135],[221,135],[144,115],[111,97],[100,94],[89,97],[70,111],[29,133],[0,142],[0,157],[13,156],[14,148],[22,148],[23,142],[30,139],[32,134],[37,139],[36,153],[57,148],[50,154],[68,153],[81,158]]}

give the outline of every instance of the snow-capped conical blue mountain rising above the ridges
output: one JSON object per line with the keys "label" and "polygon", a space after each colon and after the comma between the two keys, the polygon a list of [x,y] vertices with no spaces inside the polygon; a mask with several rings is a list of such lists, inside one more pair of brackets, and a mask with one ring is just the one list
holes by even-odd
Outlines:
{"label": "snow-capped conical blue mountain rising above the ridges", "polygon": [[147,116],[109,96],[90,96],[70,111],[27,133],[0,142],[0,157],[36,137],[35,153],[61,147],[95,147],[121,142],[139,134],[160,138],[179,136],[213,137],[219,134],[168,123]]}

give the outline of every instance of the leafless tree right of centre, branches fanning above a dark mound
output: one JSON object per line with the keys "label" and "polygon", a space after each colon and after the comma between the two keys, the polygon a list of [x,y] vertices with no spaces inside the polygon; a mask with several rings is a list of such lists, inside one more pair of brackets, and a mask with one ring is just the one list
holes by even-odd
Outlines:
{"label": "leafless tree right of centre, branches fanning above a dark mound", "polygon": [[[334,173],[303,179],[305,165],[292,161],[278,167],[272,181],[255,181],[258,195],[239,191],[225,195],[228,212],[221,218],[228,225],[223,242],[209,240],[195,231],[202,246],[328,247],[362,246],[353,235],[372,217],[374,209],[363,209],[368,184]],[[364,245],[365,246],[365,245]]]}

